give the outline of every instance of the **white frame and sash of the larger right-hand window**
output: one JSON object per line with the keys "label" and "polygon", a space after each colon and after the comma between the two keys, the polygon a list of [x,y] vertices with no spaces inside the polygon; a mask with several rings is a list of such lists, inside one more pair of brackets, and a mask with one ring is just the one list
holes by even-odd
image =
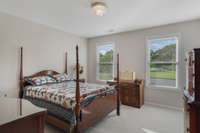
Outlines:
{"label": "white frame and sash of the larger right-hand window", "polygon": [[[150,42],[152,40],[167,40],[167,39],[176,39],[176,61],[170,62],[171,64],[176,65],[176,86],[164,86],[164,85],[152,85],[150,84],[150,64],[151,64],[151,56],[150,56]],[[179,45],[180,45],[180,37],[177,34],[168,35],[168,36],[157,36],[157,37],[150,37],[146,39],[146,86],[149,88],[167,88],[167,89],[173,89],[177,90],[179,88],[178,82],[179,82]],[[156,63],[155,63],[156,64]],[[159,64],[159,63],[158,63]],[[163,64],[165,64],[163,62]],[[167,62],[166,62],[167,64]]]}

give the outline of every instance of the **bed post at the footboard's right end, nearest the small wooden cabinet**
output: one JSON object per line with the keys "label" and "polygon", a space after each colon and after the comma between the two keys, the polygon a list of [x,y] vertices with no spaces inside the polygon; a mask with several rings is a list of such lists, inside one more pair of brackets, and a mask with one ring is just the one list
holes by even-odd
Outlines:
{"label": "bed post at the footboard's right end, nearest the small wooden cabinet", "polygon": [[120,116],[119,54],[117,54],[117,115]]}

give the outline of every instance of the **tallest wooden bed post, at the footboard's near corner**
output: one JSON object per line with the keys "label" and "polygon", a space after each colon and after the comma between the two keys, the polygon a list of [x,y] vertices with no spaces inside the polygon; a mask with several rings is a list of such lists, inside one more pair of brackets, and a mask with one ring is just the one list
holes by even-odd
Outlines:
{"label": "tallest wooden bed post, at the footboard's near corner", "polygon": [[79,117],[80,117],[80,85],[79,85],[79,51],[78,45],[76,46],[76,106],[75,106],[75,114],[76,114],[76,125],[75,125],[75,133],[79,133]]}

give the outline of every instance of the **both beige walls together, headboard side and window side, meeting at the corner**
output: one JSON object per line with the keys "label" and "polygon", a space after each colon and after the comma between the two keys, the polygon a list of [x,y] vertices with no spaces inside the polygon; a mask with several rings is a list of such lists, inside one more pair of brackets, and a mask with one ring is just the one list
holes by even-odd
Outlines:
{"label": "both beige walls together, headboard side and window side, meeting at the corner", "polygon": [[[43,69],[63,72],[66,51],[70,69],[75,63],[75,45],[79,44],[80,61],[85,68],[82,76],[87,75],[89,82],[97,82],[96,44],[114,42],[120,53],[120,69],[135,71],[138,78],[144,79],[146,38],[170,34],[180,35],[179,89],[182,89],[185,84],[184,54],[200,47],[199,20],[91,38],[87,45],[84,38],[0,13],[0,92],[17,96],[20,46],[24,47],[24,75],[30,75]],[[182,107],[181,90],[145,88],[145,102],[179,108]]]}

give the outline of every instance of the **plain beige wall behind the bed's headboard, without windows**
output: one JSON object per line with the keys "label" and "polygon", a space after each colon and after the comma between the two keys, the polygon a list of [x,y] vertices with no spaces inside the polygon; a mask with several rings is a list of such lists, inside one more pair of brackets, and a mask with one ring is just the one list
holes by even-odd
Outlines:
{"label": "plain beige wall behind the bed's headboard, without windows", "polygon": [[64,72],[66,51],[70,69],[75,63],[76,44],[86,70],[86,39],[0,13],[0,92],[17,96],[20,46],[24,47],[24,75],[30,75],[44,69]]}

